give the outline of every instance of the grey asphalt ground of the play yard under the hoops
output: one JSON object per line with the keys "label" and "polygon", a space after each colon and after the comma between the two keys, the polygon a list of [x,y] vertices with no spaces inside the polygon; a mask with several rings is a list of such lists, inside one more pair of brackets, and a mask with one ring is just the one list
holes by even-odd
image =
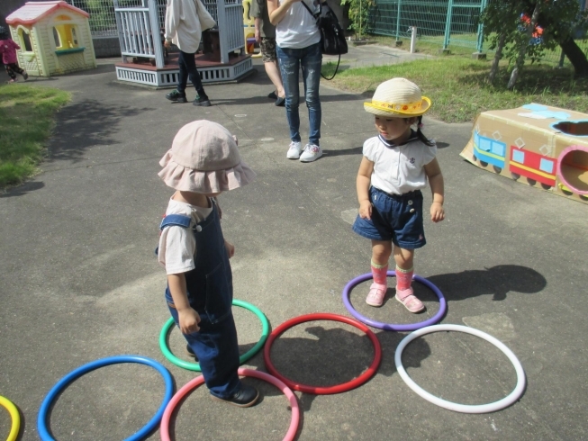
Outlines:
{"label": "grey asphalt ground of the play yard under the hoops", "polygon": [[[393,55],[386,55],[393,54]],[[344,65],[402,60],[399,51],[352,48]],[[23,416],[23,440],[37,439],[41,401],[65,374],[106,356],[137,354],[166,365],[176,388],[194,373],[171,365],[158,347],[168,319],[166,277],[153,249],[172,191],[158,160],[188,121],[209,119],[240,139],[254,183],[222,194],[223,229],[236,247],[235,297],[265,312],[275,329],[311,312],[349,316],[341,290],[369,271],[370,247],[351,231],[361,146],[374,135],[365,97],[321,85],[320,160],[288,160],[283,108],[256,60],[258,74],[239,84],[210,85],[209,108],[168,103],[165,91],[115,81],[113,60],[92,71],[35,80],[72,92],[58,114],[42,173],[0,197],[0,394]],[[190,91],[189,98],[194,98]],[[302,132],[308,119],[301,107]],[[296,392],[303,418],[299,440],[577,440],[588,438],[585,316],[588,205],[515,183],[466,163],[459,152],[471,124],[425,120],[439,145],[447,219],[426,222],[428,245],[416,270],[448,300],[442,323],[466,324],[504,342],[520,358],[528,386],[520,401],[492,414],[441,409],[412,392],[397,374],[394,350],[405,333],[374,329],[383,350],[377,374],[336,395]],[[430,202],[430,193],[425,193]],[[365,305],[367,283],[351,293],[375,320],[407,323],[438,311],[419,286],[427,312],[412,316],[392,299]],[[241,352],[261,327],[235,308]],[[180,357],[182,338],[169,345]],[[272,349],[276,368],[301,383],[345,383],[371,364],[374,350],[357,329],[309,322],[288,330]],[[516,383],[514,369],[480,338],[444,332],[418,338],[403,364],[427,391],[449,400],[500,400]],[[259,353],[246,366],[265,370]],[[257,380],[257,406],[241,410],[193,392],[172,424],[176,440],[279,440],[289,424],[285,398]],[[59,395],[50,431],[59,440],[130,437],[158,409],[163,382],[143,365],[113,365],[86,374]],[[10,426],[0,411],[0,438]],[[3,435],[4,434],[4,435]],[[158,439],[157,431],[149,439]]]}

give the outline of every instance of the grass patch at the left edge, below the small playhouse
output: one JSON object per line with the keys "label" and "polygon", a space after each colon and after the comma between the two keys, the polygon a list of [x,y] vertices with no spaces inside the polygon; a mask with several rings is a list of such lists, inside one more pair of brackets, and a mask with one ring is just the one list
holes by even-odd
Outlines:
{"label": "grass patch at the left edge, below the small playhouse", "polygon": [[49,87],[0,85],[0,188],[34,175],[69,94]]}

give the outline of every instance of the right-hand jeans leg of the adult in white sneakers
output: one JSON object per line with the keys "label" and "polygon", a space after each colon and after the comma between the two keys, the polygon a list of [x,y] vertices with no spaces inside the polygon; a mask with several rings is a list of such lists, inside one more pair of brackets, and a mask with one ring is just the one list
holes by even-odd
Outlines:
{"label": "right-hand jeans leg of the adult in white sneakers", "polygon": [[319,146],[319,139],[321,139],[321,99],[319,97],[322,66],[321,44],[313,44],[303,50],[301,65],[303,67],[304,96],[306,97],[310,125],[308,140],[309,144]]}

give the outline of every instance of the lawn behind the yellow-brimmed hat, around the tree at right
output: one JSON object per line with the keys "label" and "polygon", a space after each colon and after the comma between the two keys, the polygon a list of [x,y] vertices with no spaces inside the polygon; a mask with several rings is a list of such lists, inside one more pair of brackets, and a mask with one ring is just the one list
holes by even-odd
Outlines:
{"label": "lawn behind the yellow-brimmed hat, around the tree at right", "polygon": [[[473,121],[480,112],[512,109],[526,103],[541,103],[578,112],[588,109],[588,79],[574,80],[570,68],[525,66],[515,89],[506,88],[509,73],[501,67],[491,85],[486,78],[490,61],[463,57],[421,59],[381,67],[339,71],[330,84],[371,99],[375,87],[394,76],[403,76],[421,87],[432,101],[431,117],[447,122]],[[322,67],[331,76],[334,65]]]}

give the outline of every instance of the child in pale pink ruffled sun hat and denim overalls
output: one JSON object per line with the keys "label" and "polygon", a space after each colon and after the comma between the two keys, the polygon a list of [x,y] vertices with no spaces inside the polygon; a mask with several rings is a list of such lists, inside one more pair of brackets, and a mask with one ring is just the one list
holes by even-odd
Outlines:
{"label": "child in pale pink ruffled sun hat and denim overalls", "polygon": [[216,196],[249,184],[255,173],[241,160],[231,132],[204,120],[182,127],[159,164],[163,169],[158,175],[176,190],[159,226],[158,261],[167,273],[167,307],[213,397],[252,406],[259,393],[237,374],[229,263],[235,247],[222,236]]}

